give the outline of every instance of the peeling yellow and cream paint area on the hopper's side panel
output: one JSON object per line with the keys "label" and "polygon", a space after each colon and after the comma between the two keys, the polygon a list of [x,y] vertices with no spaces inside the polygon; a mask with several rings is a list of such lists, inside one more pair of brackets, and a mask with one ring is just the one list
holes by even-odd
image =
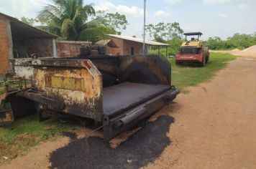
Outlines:
{"label": "peeling yellow and cream paint area on the hopper's side panel", "polygon": [[96,105],[95,101],[101,97],[101,74],[93,77],[87,69],[35,68],[34,74],[36,86],[45,90],[47,96],[62,98],[65,105],[86,104],[93,107]]}

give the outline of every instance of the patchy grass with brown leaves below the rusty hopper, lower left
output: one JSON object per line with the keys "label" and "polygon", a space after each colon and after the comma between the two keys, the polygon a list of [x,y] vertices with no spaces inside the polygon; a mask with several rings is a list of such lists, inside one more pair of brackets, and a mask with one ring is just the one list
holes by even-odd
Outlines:
{"label": "patchy grass with brown leaves below the rusty hopper, lower left", "polygon": [[74,128],[75,125],[63,124],[54,119],[38,122],[36,115],[19,119],[13,125],[0,127],[0,164],[24,155],[29,148]]}

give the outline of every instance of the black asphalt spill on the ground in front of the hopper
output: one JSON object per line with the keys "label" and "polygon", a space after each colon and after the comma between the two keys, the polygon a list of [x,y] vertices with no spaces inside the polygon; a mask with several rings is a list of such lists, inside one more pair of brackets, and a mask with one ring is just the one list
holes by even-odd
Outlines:
{"label": "black asphalt spill on the ground in front of the hopper", "polygon": [[173,117],[162,115],[115,149],[100,137],[71,139],[68,145],[51,153],[50,168],[141,168],[170,145],[166,134],[173,122]]}

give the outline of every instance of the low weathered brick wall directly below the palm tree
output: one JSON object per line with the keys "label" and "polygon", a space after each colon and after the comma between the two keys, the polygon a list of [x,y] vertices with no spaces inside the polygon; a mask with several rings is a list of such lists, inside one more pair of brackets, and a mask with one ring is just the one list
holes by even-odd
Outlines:
{"label": "low weathered brick wall directly below the palm tree", "polygon": [[77,57],[82,44],[88,46],[91,42],[56,41],[57,57]]}

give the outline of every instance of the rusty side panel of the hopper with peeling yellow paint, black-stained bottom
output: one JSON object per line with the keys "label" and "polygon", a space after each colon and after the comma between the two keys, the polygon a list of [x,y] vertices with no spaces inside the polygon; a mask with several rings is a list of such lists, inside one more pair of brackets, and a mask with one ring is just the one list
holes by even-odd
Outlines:
{"label": "rusty side panel of the hopper with peeling yellow paint, black-stained bottom", "polygon": [[63,102],[62,112],[101,121],[101,73],[89,60],[74,60],[76,67],[68,67],[70,63],[67,61],[47,59],[45,64],[43,60],[37,60],[34,67],[36,87],[44,90],[48,98]]}

